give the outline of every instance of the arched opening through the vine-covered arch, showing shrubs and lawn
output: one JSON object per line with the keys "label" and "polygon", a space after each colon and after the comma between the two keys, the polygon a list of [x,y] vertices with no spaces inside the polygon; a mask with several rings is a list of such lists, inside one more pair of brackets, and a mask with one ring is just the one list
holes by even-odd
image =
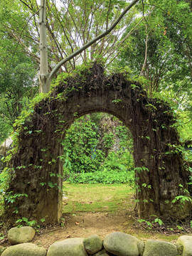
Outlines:
{"label": "arched opening through the vine-covered arch, showing shrubs and lawn", "polygon": [[128,193],[134,193],[133,139],[117,117],[102,112],[80,117],[66,131],[62,144],[64,213],[111,211],[122,206],[123,200],[122,208],[125,204],[130,208]]}

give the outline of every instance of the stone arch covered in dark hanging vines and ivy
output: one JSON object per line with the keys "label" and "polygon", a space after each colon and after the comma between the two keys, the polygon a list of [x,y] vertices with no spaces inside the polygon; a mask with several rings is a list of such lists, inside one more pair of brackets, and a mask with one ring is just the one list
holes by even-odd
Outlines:
{"label": "stone arch covered in dark hanging vines and ivy", "polygon": [[59,220],[63,175],[60,142],[76,118],[92,112],[110,113],[132,132],[140,218],[152,214],[185,218],[191,205],[181,208],[179,203],[172,203],[183,193],[181,185],[188,188],[188,173],[182,154],[176,150],[179,140],[169,105],[148,98],[141,85],[123,74],[105,75],[97,63],[63,79],[18,125],[17,150],[9,161],[6,218],[46,217],[48,223]]}

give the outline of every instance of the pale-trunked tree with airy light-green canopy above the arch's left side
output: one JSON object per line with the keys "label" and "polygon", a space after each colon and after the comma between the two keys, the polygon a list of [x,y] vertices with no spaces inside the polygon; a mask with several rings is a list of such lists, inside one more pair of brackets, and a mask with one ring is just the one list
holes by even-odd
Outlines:
{"label": "pale-trunked tree with airy light-green canopy above the arch's left side", "polygon": [[[41,83],[48,82],[49,84],[53,75],[62,65],[66,72],[70,72],[71,69],[75,68],[75,64],[82,62],[82,60],[93,59],[98,54],[102,56],[110,55],[117,38],[121,36],[124,28],[127,27],[127,23],[132,22],[135,12],[129,14],[128,21],[123,18],[124,14],[138,1],[134,0],[131,4],[125,0],[110,0],[105,3],[100,0],[60,1],[60,5],[56,6],[55,1],[48,0],[48,15],[46,18],[45,0],[41,1],[40,12],[38,12],[38,4],[34,0],[16,0],[14,6],[7,8],[4,8],[4,6],[8,2],[3,0],[2,13],[4,19],[2,20],[2,26],[9,31],[15,41],[21,44],[23,50],[38,63],[40,63],[40,58],[37,49],[40,36],[42,61],[40,78],[43,75]],[[21,13],[20,16],[18,10]],[[121,12],[122,14],[119,15]],[[41,20],[40,29],[38,29],[38,14]],[[19,16],[18,23],[15,21],[15,15]],[[7,26],[7,20],[9,20],[9,26]],[[48,31],[47,41],[46,28]],[[115,28],[115,31],[110,34],[113,28]],[[49,49],[48,63],[46,56],[47,44]],[[91,48],[87,50],[89,46]],[[48,64],[48,67],[45,63]],[[53,68],[55,63],[58,64]],[[47,77],[48,73],[50,73],[49,79]]]}

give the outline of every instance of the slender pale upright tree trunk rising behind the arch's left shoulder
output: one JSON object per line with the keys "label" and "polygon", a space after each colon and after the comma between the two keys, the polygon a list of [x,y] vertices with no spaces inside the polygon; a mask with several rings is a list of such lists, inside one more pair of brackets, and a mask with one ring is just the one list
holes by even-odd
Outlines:
{"label": "slender pale upright tree trunk rising behind the arch's left shoulder", "polygon": [[47,93],[50,89],[48,85],[48,45],[46,36],[46,0],[41,0],[40,7],[40,92]]}

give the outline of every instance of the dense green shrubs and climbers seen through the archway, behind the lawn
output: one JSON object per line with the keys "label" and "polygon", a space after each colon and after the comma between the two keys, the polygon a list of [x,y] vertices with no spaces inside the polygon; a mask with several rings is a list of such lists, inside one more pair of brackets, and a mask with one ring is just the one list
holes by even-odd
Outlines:
{"label": "dense green shrubs and climbers seen through the archway, behind the lawn", "polygon": [[[81,117],[66,132],[61,156],[65,180],[71,183],[133,182],[132,137],[116,117],[105,119],[105,115],[95,113]],[[101,125],[101,120],[106,123]],[[101,127],[104,130],[101,131]]]}

